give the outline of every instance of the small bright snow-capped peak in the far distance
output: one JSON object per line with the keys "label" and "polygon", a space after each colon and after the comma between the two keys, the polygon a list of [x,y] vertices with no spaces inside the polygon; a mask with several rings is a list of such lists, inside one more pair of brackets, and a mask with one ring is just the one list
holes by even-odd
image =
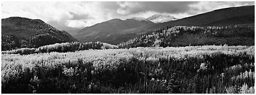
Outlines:
{"label": "small bright snow-capped peak in the far distance", "polygon": [[155,14],[155,15],[149,16],[146,19],[151,20],[151,22],[162,23],[162,22],[169,22],[172,20],[178,20],[179,18],[175,18],[174,16],[169,16],[165,14]]}

